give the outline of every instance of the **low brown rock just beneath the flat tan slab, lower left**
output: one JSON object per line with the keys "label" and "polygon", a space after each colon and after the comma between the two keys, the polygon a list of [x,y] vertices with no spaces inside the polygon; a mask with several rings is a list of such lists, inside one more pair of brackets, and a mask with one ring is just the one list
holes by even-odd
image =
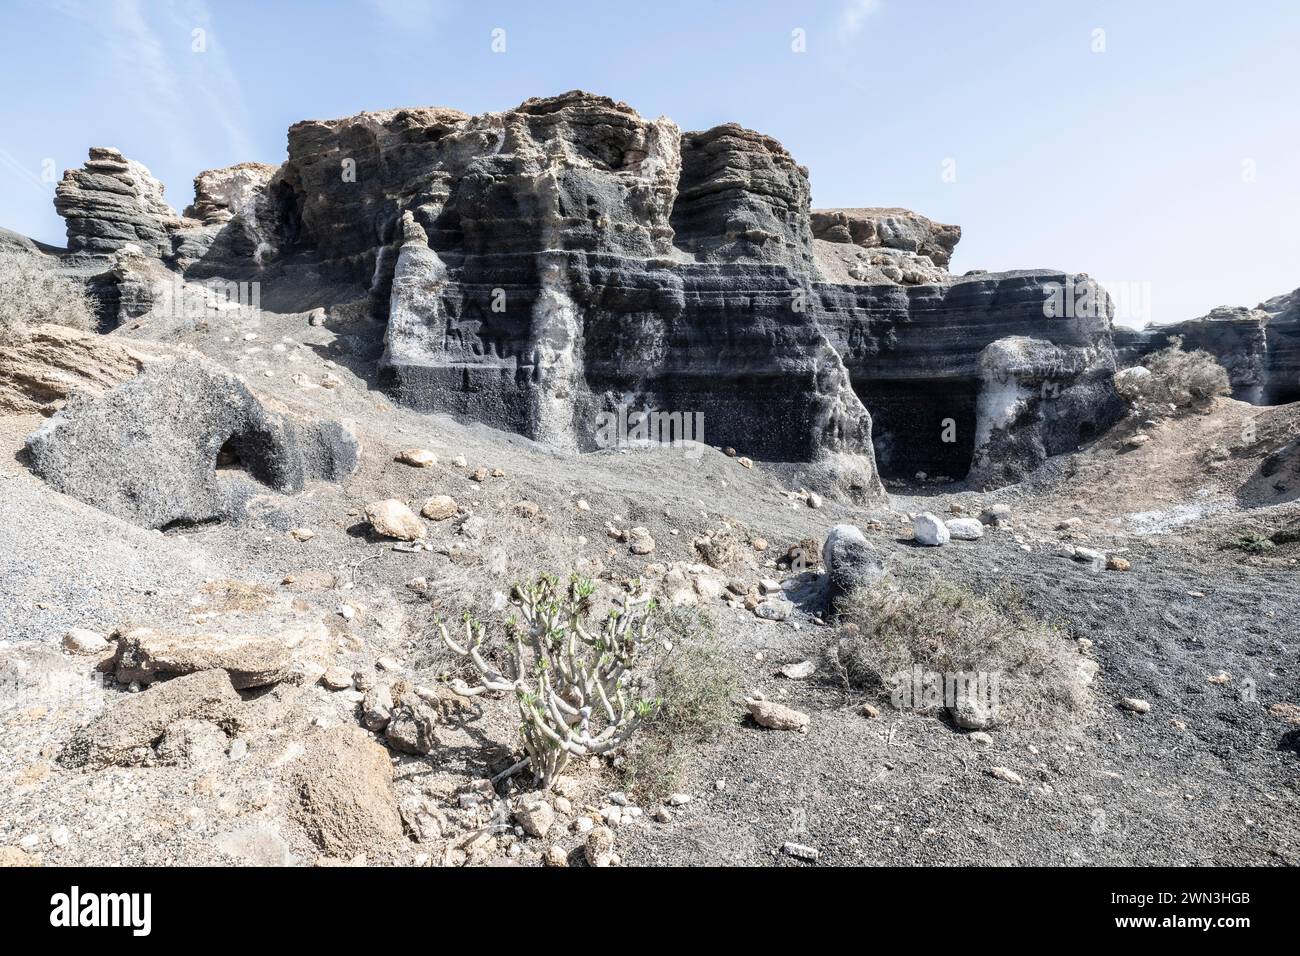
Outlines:
{"label": "low brown rock just beneath the flat tan slab, lower left", "polygon": [[143,763],[172,724],[226,724],[237,719],[239,708],[239,695],[225,671],[188,674],[110,704],[73,734],[58,762],[69,767]]}

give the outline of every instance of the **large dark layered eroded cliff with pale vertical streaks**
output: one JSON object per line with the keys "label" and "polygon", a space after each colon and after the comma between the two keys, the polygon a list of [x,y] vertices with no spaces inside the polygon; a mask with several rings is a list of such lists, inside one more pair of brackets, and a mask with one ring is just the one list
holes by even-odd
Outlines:
{"label": "large dark layered eroded cliff with pale vertical streaks", "polygon": [[1084,277],[952,277],[958,228],[812,211],[807,170],[734,124],[682,133],[580,91],[300,122],[280,168],[202,174],[185,217],[126,163],[92,153],[60,200],[122,287],[126,243],[190,277],[312,263],[369,289],[398,401],[551,445],[655,410],[870,498],[878,458],[998,484],[1119,412],[1109,299],[1046,306]]}

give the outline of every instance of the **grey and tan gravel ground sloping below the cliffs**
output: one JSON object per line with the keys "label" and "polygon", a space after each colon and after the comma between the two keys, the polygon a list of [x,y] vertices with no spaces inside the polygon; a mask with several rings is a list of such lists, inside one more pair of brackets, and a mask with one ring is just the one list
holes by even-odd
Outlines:
{"label": "grey and tan gravel ground sloping below the cliffs", "polygon": [[[344,421],[364,449],[356,475],[312,484],[296,497],[255,496],[237,522],[146,532],[49,492],[21,462],[22,438],[40,419],[0,419],[0,663],[10,671],[84,676],[83,658],[57,650],[69,627],[256,631],[315,623],[337,662],[373,669],[378,657],[395,656],[410,679],[432,683],[448,665],[432,636],[434,615],[482,613],[538,570],[599,574],[612,592],[614,583],[653,564],[698,561],[692,540],[727,523],[770,542],[737,572],[757,581],[775,574],[771,562],[786,546],[850,522],[866,528],[898,574],[928,572],[976,591],[1010,584],[1034,613],[1091,640],[1100,665],[1092,711],[1075,726],[993,730],[984,747],[933,717],[887,706],[871,719],[861,713],[862,692],[846,688],[828,658],[835,628],[819,626],[811,607],[768,623],[719,605],[711,613],[745,687],[809,713],[809,730],[767,731],[746,719],[698,747],[682,784],[694,799],[668,823],[642,817],[620,829],[624,862],[806,865],[781,853],[786,842],[815,847],[823,864],[1297,862],[1296,728],[1269,713],[1300,697],[1295,555],[1279,549],[1245,558],[1219,548],[1240,522],[1280,520],[1296,503],[1249,512],[1234,506],[1178,535],[1136,536],[1124,515],[1183,505],[1206,475],[1195,460],[1176,459],[1182,484],[1130,484],[1123,476],[1139,459],[1098,444],[1054,463],[1040,483],[997,494],[927,486],[898,489],[889,509],[827,502],[814,510],[792,494],[797,468],[746,470],[714,449],[578,457],[394,407],[365,377],[380,326],[364,319],[313,328],[300,313],[265,312],[256,330],[268,347],[255,352],[242,347],[239,329],[224,337],[170,329],[165,337],[229,364],[294,411]],[[326,372],[342,384],[315,386]],[[295,375],[308,385],[295,384]],[[1225,408],[1240,416],[1245,406]],[[1174,455],[1187,442],[1167,432],[1141,454],[1167,446]],[[438,464],[395,463],[407,446],[436,451]],[[456,455],[468,467],[454,464]],[[478,464],[504,477],[471,481]],[[1164,473],[1157,466],[1153,459],[1150,473]],[[1242,455],[1236,471],[1214,481],[1230,489],[1254,467],[1257,458]],[[419,507],[436,493],[484,516],[484,536],[467,540],[450,523],[430,523],[434,550],[410,554],[367,529],[367,502],[396,497]],[[577,507],[580,498],[589,510]],[[540,514],[520,515],[520,501],[536,502]],[[1013,529],[942,549],[905,540],[905,512],[946,512],[953,502],[971,511],[992,501],[1013,505]],[[1069,515],[1083,515],[1084,524],[1053,531]],[[606,535],[607,522],[649,528],[655,553],[630,555]],[[287,531],[296,527],[316,536],[295,541]],[[1060,557],[1062,538],[1127,549],[1132,570],[1093,572]],[[333,580],[307,588],[308,572]],[[282,584],[286,575],[296,583]],[[422,592],[407,587],[417,576],[429,581]],[[355,619],[339,617],[342,604],[358,609]],[[811,679],[776,676],[780,665],[801,659],[818,665]],[[1230,675],[1226,683],[1208,680],[1221,671]],[[286,692],[285,714],[250,739],[251,756],[240,762],[58,767],[53,756],[62,741],[121,693],[109,685],[0,708],[0,847],[23,845],[52,864],[317,858],[290,819],[285,766],[313,722],[355,722],[351,704],[321,687]],[[1141,697],[1150,711],[1121,710],[1122,697]],[[398,795],[425,793],[455,814],[458,790],[503,766],[512,740],[508,702],[484,701],[446,730],[430,758],[395,758]],[[1015,771],[1023,784],[996,779],[992,767]],[[577,805],[598,806],[619,787],[608,766],[578,766],[572,775],[582,792]],[[566,849],[581,843],[567,831],[552,840]],[[494,845],[506,853],[508,843]],[[538,842],[519,845],[520,862],[538,860]],[[419,864],[441,852],[403,842],[376,845],[367,858]]]}

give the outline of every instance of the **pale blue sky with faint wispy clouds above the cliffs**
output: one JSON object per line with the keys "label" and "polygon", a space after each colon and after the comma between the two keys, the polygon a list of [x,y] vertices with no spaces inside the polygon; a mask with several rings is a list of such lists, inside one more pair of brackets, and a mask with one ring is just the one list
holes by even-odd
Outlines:
{"label": "pale blue sky with faint wispy clouds above the cliffs", "polygon": [[0,225],[58,245],[42,174],[91,144],[148,165],[181,209],[202,169],[283,160],[296,120],[477,113],[580,87],[682,129],[768,133],[810,168],[814,206],[957,222],[954,271],[1087,272],[1126,298],[1128,324],[1300,286],[1295,0],[0,9]]}

